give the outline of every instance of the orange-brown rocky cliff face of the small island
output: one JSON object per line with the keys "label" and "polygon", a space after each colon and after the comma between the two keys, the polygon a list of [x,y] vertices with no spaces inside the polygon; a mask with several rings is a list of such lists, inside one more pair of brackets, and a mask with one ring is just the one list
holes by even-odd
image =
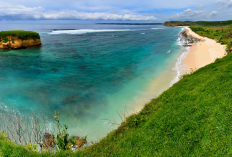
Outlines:
{"label": "orange-brown rocky cliff face of the small island", "polygon": [[4,43],[4,41],[0,42],[0,48],[1,49],[20,49],[20,48],[26,48],[26,47],[33,47],[33,46],[39,46],[41,45],[40,39],[27,39],[22,40],[18,37],[7,37],[11,41],[8,41]]}

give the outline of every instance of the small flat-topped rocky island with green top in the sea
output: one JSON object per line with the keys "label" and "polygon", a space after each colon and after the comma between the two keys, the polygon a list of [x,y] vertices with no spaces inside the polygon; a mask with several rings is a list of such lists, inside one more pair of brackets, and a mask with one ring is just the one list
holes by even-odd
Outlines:
{"label": "small flat-topped rocky island with green top in the sea", "polygon": [[40,35],[37,32],[23,30],[0,32],[0,49],[20,49],[40,45]]}

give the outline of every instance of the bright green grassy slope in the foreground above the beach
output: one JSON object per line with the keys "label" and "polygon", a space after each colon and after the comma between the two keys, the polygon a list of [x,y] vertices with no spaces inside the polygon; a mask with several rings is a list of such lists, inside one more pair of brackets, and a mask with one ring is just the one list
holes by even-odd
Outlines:
{"label": "bright green grassy slope in the foreground above the beach", "polygon": [[0,156],[231,156],[232,54],[186,75],[99,143],[35,153],[0,138]]}

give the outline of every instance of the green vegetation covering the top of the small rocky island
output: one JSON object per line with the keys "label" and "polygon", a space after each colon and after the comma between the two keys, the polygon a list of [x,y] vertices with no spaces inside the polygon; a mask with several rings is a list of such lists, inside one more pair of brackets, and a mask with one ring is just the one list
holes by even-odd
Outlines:
{"label": "green vegetation covering the top of the small rocky island", "polygon": [[11,41],[9,37],[18,37],[19,39],[22,39],[22,40],[40,39],[39,34],[36,32],[32,32],[32,31],[12,30],[12,31],[1,31],[0,32],[0,41],[3,41],[4,43]]}

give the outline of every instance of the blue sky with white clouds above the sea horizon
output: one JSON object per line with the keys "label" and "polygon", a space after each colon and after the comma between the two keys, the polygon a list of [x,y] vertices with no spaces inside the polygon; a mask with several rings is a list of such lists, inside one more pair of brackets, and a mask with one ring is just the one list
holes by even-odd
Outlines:
{"label": "blue sky with white clouds above the sea horizon", "polygon": [[0,0],[0,22],[232,20],[232,0]]}

